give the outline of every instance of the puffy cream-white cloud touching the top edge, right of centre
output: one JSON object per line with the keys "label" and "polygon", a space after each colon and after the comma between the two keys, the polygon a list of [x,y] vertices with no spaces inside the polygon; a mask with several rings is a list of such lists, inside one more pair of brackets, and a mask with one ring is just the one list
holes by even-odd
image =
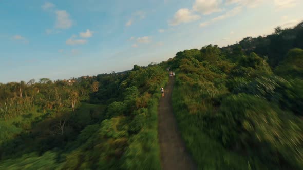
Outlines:
{"label": "puffy cream-white cloud touching the top edge, right of centre", "polygon": [[208,15],[214,12],[220,12],[222,9],[219,8],[221,0],[196,0],[193,5],[193,10]]}

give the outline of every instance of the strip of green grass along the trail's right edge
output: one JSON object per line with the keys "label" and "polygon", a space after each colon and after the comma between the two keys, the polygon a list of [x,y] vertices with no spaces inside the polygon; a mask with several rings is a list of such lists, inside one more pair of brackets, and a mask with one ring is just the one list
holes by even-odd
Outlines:
{"label": "strip of green grass along the trail's right edge", "polygon": [[[190,88],[178,86],[177,83],[173,90],[172,103],[181,136],[198,169],[249,169],[249,162],[245,158],[226,151],[220,143],[203,133],[201,111],[206,114],[209,106],[203,105],[203,99],[198,100],[194,95],[196,94],[191,94]],[[195,103],[199,107],[199,113],[191,113],[193,108],[190,107]]]}

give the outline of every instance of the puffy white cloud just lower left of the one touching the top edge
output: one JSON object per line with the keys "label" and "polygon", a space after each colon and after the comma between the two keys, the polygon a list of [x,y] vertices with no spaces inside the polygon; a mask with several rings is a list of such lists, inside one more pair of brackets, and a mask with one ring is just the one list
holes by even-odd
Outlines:
{"label": "puffy white cloud just lower left of the one touching the top edge", "polygon": [[201,17],[199,15],[193,14],[192,11],[190,11],[187,8],[181,8],[179,9],[174,16],[174,19],[169,22],[170,25],[176,26],[181,23],[189,23],[193,22],[195,20],[200,19]]}

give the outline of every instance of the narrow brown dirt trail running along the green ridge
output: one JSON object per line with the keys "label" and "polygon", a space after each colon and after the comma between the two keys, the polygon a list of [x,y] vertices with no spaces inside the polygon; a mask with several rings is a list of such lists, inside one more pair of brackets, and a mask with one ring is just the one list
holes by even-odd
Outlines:
{"label": "narrow brown dirt trail running along the green ridge", "polygon": [[158,108],[158,134],[162,170],[197,169],[179,133],[172,108],[174,78],[169,78],[165,97],[160,99]]}

